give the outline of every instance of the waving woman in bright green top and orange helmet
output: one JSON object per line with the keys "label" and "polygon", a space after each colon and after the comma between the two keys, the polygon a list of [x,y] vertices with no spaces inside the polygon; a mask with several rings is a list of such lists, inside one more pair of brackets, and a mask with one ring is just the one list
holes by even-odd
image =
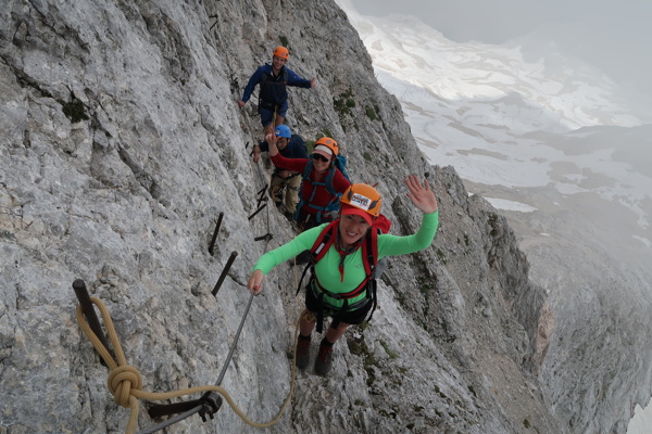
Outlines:
{"label": "waving woman in bright green top and orange helmet", "polygon": [[[424,250],[432,243],[437,232],[437,199],[428,182],[424,180],[422,184],[415,176],[410,175],[405,184],[410,190],[408,197],[423,213],[421,228],[408,237],[378,234],[376,260],[385,256]],[[327,230],[333,232],[333,237],[326,237],[329,239],[329,243],[325,244],[326,253],[318,256],[311,281],[306,285],[306,312],[302,315],[297,342],[298,368],[304,369],[310,362],[311,334],[317,323],[317,317],[333,317],[315,360],[315,372],[325,375],[333,365],[333,345],[349,326],[364,321],[372,309],[371,291],[367,291],[369,273],[363,255],[363,241],[367,233],[374,232],[369,229],[380,216],[381,204],[383,200],[376,189],[363,183],[352,184],[340,199],[339,219],[300,233],[289,243],[261,256],[253,266],[247,288],[259,294],[264,275],[299,253],[312,250],[316,241],[324,240]]]}

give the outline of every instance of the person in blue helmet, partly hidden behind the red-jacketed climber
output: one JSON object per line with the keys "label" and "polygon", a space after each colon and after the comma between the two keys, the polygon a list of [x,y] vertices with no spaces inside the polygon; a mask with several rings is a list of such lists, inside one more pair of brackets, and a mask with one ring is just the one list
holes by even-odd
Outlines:
{"label": "person in blue helmet, partly hidden behind the red-jacketed climber", "polygon": [[[299,136],[292,137],[292,132],[287,125],[279,125],[274,130],[274,136],[277,137],[276,146],[280,155],[286,158],[308,158],[305,144]],[[253,161],[258,163],[261,159],[261,152],[268,152],[269,144],[262,141],[253,146]],[[301,174],[275,167],[269,181],[269,195],[279,208],[283,208],[285,199],[285,209],[280,209],[284,215],[292,220],[292,215],[299,203],[299,187],[301,186]],[[284,197],[285,191],[285,197]]]}

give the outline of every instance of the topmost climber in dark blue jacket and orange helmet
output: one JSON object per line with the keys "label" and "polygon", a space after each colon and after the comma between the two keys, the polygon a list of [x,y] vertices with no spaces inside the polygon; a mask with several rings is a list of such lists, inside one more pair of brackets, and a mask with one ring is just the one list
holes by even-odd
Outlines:
{"label": "topmost climber in dark blue jacket and orange helmet", "polygon": [[292,69],[285,66],[290,53],[285,47],[276,47],[272,64],[260,66],[249,78],[242,99],[238,101],[240,108],[247,104],[256,85],[259,89],[259,114],[263,124],[264,135],[272,133],[275,127],[281,125],[288,112],[288,86],[311,89],[315,87],[315,78],[301,78]]}

